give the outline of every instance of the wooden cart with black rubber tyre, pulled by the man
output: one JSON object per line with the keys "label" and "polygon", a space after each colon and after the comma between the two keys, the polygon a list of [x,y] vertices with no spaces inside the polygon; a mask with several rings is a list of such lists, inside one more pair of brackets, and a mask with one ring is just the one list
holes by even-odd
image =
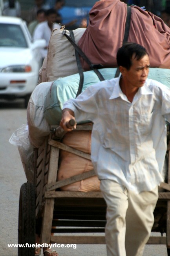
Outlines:
{"label": "wooden cart with black rubber tyre, pulled by the man", "polygon": [[[106,204],[101,192],[61,191],[60,187],[94,176],[94,171],[58,181],[60,150],[67,150],[90,159],[86,154],[60,142],[64,135],[52,127],[52,132],[40,148],[34,150],[34,184],[24,183],[20,189],[18,243],[35,244],[35,228],[41,230],[40,243],[104,244]],[[89,130],[91,126],[77,125],[77,130]],[[169,132],[167,133],[169,156]],[[167,183],[154,211],[152,232],[162,236],[150,237],[148,244],[166,244],[170,256],[170,157],[168,157]],[[164,236],[163,236],[164,234]],[[166,234],[166,236],[165,236]],[[34,248],[19,248],[18,256],[34,256]]]}

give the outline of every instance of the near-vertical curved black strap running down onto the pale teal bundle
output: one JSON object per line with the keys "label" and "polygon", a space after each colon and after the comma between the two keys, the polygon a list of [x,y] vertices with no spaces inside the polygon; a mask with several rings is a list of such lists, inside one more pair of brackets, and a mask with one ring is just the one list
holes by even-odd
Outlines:
{"label": "near-vertical curved black strap running down onto the pale teal bundle", "polygon": [[[69,34],[70,34],[71,39],[75,42],[75,37],[74,37],[73,31],[72,30],[69,31]],[[80,75],[79,88],[78,88],[77,95],[76,95],[76,98],[77,98],[77,96],[82,92],[82,87],[83,87],[83,83],[84,83],[84,73],[83,73],[79,54],[76,50],[75,50],[75,58],[77,61],[77,67],[78,67],[79,75]]]}

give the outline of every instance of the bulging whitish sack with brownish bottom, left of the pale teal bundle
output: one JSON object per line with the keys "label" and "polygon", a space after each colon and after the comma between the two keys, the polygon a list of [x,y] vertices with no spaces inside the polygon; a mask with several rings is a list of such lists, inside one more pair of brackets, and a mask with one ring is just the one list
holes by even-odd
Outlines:
{"label": "bulging whitish sack with brownish bottom, left of the pale teal bundle", "polygon": [[33,147],[39,148],[47,135],[50,134],[50,125],[44,118],[44,99],[52,82],[40,83],[35,87],[27,107],[27,122],[29,141]]}

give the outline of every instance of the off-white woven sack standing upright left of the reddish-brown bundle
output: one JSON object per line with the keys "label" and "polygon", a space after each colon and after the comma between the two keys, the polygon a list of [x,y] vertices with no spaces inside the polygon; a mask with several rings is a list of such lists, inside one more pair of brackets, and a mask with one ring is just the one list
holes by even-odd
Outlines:
{"label": "off-white woven sack standing upright left of the reddish-brown bundle", "polygon": [[[85,30],[86,28],[73,30],[76,44],[79,42]],[[48,82],[79,72],[75,58],[75,48],[62,32],[63,30],[53,30],[49,41],[47,60]],[[66,30],[66,33],[68,35],[70,34],[68,30]]]}

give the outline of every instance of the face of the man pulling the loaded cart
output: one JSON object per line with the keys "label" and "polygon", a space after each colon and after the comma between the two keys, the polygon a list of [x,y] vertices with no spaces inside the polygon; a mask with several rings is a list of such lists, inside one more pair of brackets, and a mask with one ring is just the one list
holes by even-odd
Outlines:
{"label": "face of the man pulling the loaded cart", "polygon": [[145,55],[143,58],[137,60],[132,56],[132,66],[129,70],[123,68],[122,76],[128,85],[129,89],[137,89],[144,85],[148,77],[150,67],[149,56]]}

